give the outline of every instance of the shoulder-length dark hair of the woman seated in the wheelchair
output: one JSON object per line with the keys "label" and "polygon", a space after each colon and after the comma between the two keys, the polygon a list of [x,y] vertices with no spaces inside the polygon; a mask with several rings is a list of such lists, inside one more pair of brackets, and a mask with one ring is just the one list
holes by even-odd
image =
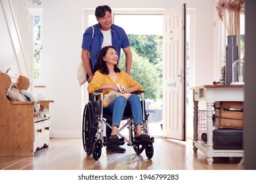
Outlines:
{"label": "shoulder-length dark hair of the woman seated in the wheelchair", "polygon": [[[104,61],[104,59],[103,59],[104,56],[106,56],[106,52],[108,51],[109,48],[113,48],[114,50],[116,50],[116,48],[114,48],[113,46],[105,46],[104,48],[102,48],[100,50],[100,53],[98,54],[98,59],[96,61],[96,65],[95,65],[95,71],[100,71],[100,73],[102,73],[104,75],[108,75],[110,73],[110,71],[108,70],[108,67],[106,65],[106,61]],[[117,64],[114,65],[114,71],[116,73],[120,73],[120,71],[121,71],[121,69],[119,69],[117,67]]]}

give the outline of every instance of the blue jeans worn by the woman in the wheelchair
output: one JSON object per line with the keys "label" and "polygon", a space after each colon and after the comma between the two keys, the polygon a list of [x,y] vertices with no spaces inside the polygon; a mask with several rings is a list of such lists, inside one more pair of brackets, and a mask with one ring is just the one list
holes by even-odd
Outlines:
{"label": "blue jeans worn by the woman in the wheelchair", "polygon": [[112,114],[112,125],[117,125],[117,127],[119,127],[124,113],[133,116],[135,125],[142,124],[140,98],[136,94],[130,95],[129,99],[125,99],[123,96],[117,97],[108,107],[103,108],[103,112]]}

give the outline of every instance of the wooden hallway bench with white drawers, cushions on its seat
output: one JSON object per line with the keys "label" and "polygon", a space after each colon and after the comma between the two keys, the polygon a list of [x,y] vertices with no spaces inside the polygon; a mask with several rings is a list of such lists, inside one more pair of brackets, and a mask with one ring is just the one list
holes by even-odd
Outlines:
{"label": "wooden hallway bench with white drawers, cushions on its seat", "polygon": [[[34,156],[37,148],[49,145],[50,137],[49,117],[35,114],[34,105],[39,103],[43,114],[53,101],[11,101],[7,97],[11,84],[11,76],[0,73],[0,156]],[[30,87],[25,76],[18,76],[15,84],[20,90]]]}

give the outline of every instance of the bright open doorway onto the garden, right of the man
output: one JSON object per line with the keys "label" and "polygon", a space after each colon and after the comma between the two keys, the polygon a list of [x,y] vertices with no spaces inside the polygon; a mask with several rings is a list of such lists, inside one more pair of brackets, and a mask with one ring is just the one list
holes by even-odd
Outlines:
{"label": "bright open doorway onto the garden, right of the man", "polygon": [[[163,15],[118,14],[115,11],[113,23],[125,30],[131,43],[131,76],[142,84],[145,90],[150,135],[162,137]],[[122,55],[119,66],[122,70],[125,69],[125,57]]]}

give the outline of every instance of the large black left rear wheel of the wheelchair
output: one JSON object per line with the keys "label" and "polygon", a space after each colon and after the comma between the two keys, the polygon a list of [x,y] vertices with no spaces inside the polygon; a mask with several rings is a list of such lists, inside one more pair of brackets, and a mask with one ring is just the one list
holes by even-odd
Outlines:
{"label": "large black left rear wheel of the wheelchair", "polygon": [[92,153],[93,143],[95,142],[95,115],[93,105],[89,102],[83,111],[83,149],[88,156]]}

